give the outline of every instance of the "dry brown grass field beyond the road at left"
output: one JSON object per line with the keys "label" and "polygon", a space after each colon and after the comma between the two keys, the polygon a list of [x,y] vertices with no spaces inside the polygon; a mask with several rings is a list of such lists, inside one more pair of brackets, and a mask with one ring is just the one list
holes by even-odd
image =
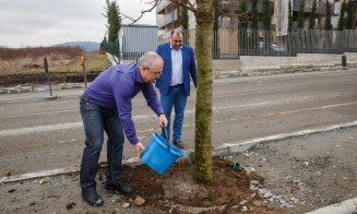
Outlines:
{"label": "dry brown grass field beyond the road at left", "polygon": [[80,58],[84,57],[87,73],[99,73],[111,66],[104,51],[84,52],[79,47],[1,48],[0,76],[41,74],[44,58],[56,74],[83,73]]}

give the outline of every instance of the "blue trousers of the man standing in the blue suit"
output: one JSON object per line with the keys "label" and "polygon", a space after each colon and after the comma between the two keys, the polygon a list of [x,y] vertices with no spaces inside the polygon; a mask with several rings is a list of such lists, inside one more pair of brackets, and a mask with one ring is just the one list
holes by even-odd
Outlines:
{"label": "blue trousers of the man standing in the blue suit", "polygon": [[167,117],[167,138],[170,136],[170,117],[172,107],[175,107],[175,119],[174,119],[174,134],[172,140],[181,140],[181,133],[182,133],[182,124],[183,124],[183,118],[185,118],[185,107],[187,103],[187,94],[185,91],[185,86],[174,86],[170,87],[168,93],[166,95],[160,94],[160,102],[165,111],[165,115]]}

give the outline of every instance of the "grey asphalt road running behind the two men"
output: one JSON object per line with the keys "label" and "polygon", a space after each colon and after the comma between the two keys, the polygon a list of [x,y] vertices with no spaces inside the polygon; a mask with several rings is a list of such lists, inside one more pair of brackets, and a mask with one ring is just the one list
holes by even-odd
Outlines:
{"label": "grey asphalt road running behind the two men", "polygon": [[[11,175],[74,167],[84,133],[79,112],[83,90],[0,95],[0,169]],[[194,147],[195,90],[185,115],[182,141]],[[213,146],[357,120],[357,70],[228,78],[214,81]],[[140,140],[159,132],[142,95],[133,99]],[[126,143],[126,157],[133,150]],[[100,159],[106,158],[106,144]]]}

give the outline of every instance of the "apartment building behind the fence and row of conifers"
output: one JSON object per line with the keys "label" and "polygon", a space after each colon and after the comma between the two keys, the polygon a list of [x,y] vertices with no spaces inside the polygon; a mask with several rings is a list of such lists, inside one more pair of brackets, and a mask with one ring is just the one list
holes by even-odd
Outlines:
{"label": "apartment building behind the fence and row of conifers", "polygon": [[[189,0],[191,4],[194,4],[195,0]],[[224,14],[238,14],[239,5],[242,1],[246,1],[248,9],[251,9],[252,0],[219,0],[218,7],[219,11]],[[337,27],[338,19],[340,19],[340,10],[343,0],[317,0],[317,11],[316,11],[316,29],[324,29],[324,21],[325,21],[325,8],[326,1],[330,2],[332,10],[332,25],[333,28]],[[349,0],[346,0],[346,2]],[[357,11],[357,0],[352,0],[354,3],[355,11]],[[293,20],[294,20],[294,28],[297,26],[298,14],[300,11],[302,0],[290,0],[291,10],[293,10]],[[311,16],[313,0],[305,0],[304,7],[304,17],[305,24],[304,28],[308,28],[309,20]],[[286,37],[288,35],[288,7],[289,0],[269,0],[269,8],[272,14],[271,22],[271,31],[269,32],[269,44],[277,43],[284,44],[286,43]],[[262,20],[263,16],[263,0],[258,0],[258,13],[259,19]],[[159,5],[156,9],[157,12],[157,25],[158,25],[158,43],[168,41],[170,37],[170,31],[176,27],[181,26],[182,19],[182,8],[170,0],[162,0]],[[227,58],[234,56],[238,52],[239,47],[238,44],[239,37],[239,19],[237,15],[222,15],[218,19],[218,31],[214,34],[213,37],[213,47],[218,47],[219,56],[226,56]],[[357,25],[357,14],[355,14],[355,23]],[[261,29],[262,23],[259,23],[260,29],[258,32],[259,43],[264,43],[266,39],[266,34]],[[355,25],[355,26],[356,26]],[[252,33],[248,33],[248,37],[251,37]],[[250,38],[254,39],[254,38]],[[195,17],[192,12],[189,12],[189,39],[188,44],[194,48],[195,41]],[[240,43],[240,41],[239,41]],[[249,40],[248,44],[257,43]],[[249,47],[254,49],[257,45],[252,45]],[[215,55],[215,51],[214,51]],[[234,56],[235,57],[235,56]],[[223,57],[225,58],[225,57]]]}

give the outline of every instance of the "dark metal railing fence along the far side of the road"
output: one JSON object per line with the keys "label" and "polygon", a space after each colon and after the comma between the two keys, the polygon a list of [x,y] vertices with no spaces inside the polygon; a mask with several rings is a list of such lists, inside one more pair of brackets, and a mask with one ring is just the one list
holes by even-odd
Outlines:
{"label": "dark metal railing fence along the far side of the road", "polygon": [[[185,41],[194,48],[194,29],[183,31]],[[169,41],[168,33],[158,43]],[[212,32],[214,59],[237,59],[239,56],[296,56],[301,54],[357,52],[357,31],[297,29],[285,36],[273,31],[221,28]]]}

